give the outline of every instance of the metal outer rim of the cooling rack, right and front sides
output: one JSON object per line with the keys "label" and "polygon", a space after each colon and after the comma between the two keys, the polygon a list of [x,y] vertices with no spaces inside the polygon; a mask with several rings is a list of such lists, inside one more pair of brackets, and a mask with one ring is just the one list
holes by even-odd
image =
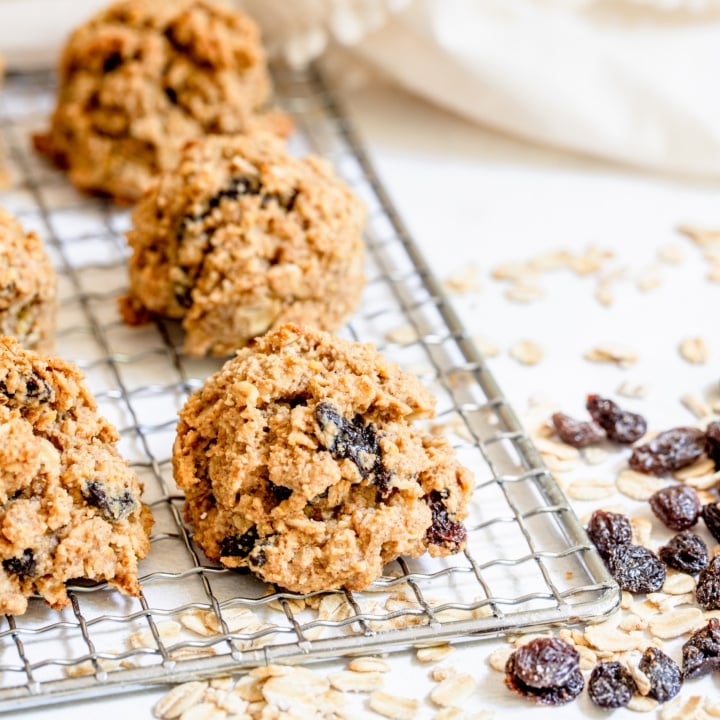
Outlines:
{"label": "metal outer rim of the cooling rack, right and front sides", "polygon": [[[380,207],[389,219],[397,239],[409,257],[418,276],[422,279],[425,289],[434,299],[437,312],[457,344],[464,361],[465,370],[469,370],[488,398],[489,406],[500,420],[506,432],[517,446],[520,457],[528,474],[534,476],[536,486],[542,492],[550,509],[553,507],[567,507],[567,501],[562,495],[556,481],[544,465],[544,462],[532,442],[525,434],[513,409],[501,393],[494,377],[488,370],[486,363],[468,337],[467,332],[451,306],[441,284],[435,278],[421,252],[413,242],[409,231],[405,227],[395,210],[392,201],[377,176],[359,137],[348,120],[344,109],[338,103],[332,89],[325,81],[321,69],[317,66],[310,68],[307,81],[313,84],[322,94],[323,101],[335,123],[339,135],[352,151],[352,154],[361,167],[364,179],[367,180],[372,192],[379,201]],[[412,308],[408,300],[393,285],[393,292],[399,305],[407,315],[410,323],[422,341],[421,329],[413,319]],[[430,352],[428,354],[431,354]],[[482,443],[476,438],[478,446]],[[488,461],[488,464],[491,464]],[[512,508],[517,515],[517,510]],[[587,552],[583,560],[588,566],[589,573],[596,579],[594,586],[585,586],[583,590],[594,592],[589,601],[575,604],[564,602],[559,597],[556,607],[542,610],[522,610],[515,613],[493,613],[486,618],[476,618],[468,621],[458,621],[452,624],[430,624],[404,629],[394,629],[389,638],[384,631],[368,633],[352,638],[353,646],[343,648],[338,652],[335,638],[313,640],[311,646],[302,647],[299,644],[265,646],[252,651],[243,651],[242,654],[233,652],[222,657],[196,658],[182,661],[166,661],[161,665],[120,669],[67,677],[48,682],[36,682],[0,689],[0,713],[30,707],[39,707],[59,701],[68,701],[78,698],[93,698],[100,695],[119,694],[166,684],[168,682],[184,682],[187,680],[209,678],[219,674],[248,670],[257,665],[269,662],[301,663],[312,660],[337,658],[343,655],[352,655],[370,652],[387,652],[400,650],[417,645],[435,644],[440,641],[455,640],[467,641],[479,637],[492,637],[508,631],[519,629],[540,629],[558,624],[573,624],[606,616],[613,612],[619,603],[617,586],[610,577],[599,555],[592,546],[588,546],[584,529],[574,513],[563,512],[563,531],[568,543],[580,546]],[[12,626],[11,626],[12,627]],[[231,640],[227,634],[218,635],[217,643]],[[17,638],[16,638],[17,642]],[[102,654],[96,654],[95,660]]]}

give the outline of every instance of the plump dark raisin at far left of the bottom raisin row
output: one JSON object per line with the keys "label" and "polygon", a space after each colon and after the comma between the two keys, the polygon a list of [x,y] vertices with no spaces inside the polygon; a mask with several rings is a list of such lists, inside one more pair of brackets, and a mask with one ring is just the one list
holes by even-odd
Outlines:
{"label": "plump dark raisin at far left of the bottom raisin row", "polygon": [[560,638],[538,638],[515,652],[515,675],[529,687],[564,685],[580,667],[580,654]]}

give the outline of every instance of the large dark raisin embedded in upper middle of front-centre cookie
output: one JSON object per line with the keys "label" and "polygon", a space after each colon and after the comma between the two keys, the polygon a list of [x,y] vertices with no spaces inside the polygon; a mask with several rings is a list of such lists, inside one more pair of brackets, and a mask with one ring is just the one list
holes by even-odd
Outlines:
{"label": "large dark raisin embedded in upper middle of front-centre cookie", "polygon": [[382,463],[382,452],[372,424],[364,425],[357,415],[347,420],[327,402],[315,408],[319,440],[336,460],[352,460],[362,478],[375,484],[381,493],[388,490],[390,472]]}

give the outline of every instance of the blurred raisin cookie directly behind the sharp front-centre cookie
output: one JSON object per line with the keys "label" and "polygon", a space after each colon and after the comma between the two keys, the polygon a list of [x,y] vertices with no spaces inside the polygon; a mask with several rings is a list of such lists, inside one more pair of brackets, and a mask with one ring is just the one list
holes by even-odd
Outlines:
{"label": "blurred raisin cookie directly behind the sharp front-centre cookie", "polygon": [[360,299],[364,219],[326,162],[271,135],[191,141],[133,214],[123,315],[181,319],[189,355],[285,322],[334,330]]}

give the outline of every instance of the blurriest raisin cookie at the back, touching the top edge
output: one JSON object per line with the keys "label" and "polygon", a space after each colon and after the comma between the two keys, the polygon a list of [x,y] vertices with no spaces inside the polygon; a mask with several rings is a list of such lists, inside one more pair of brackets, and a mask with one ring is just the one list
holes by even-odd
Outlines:
{"label": "blurriest raisin cookie at the back, touching the top edge", "polygon": [[255,23],[209,0],[123,0],[77,28],[36,148],[81,190],[135,202],[188,138],[291,123],[265,111],[271,83]]}

